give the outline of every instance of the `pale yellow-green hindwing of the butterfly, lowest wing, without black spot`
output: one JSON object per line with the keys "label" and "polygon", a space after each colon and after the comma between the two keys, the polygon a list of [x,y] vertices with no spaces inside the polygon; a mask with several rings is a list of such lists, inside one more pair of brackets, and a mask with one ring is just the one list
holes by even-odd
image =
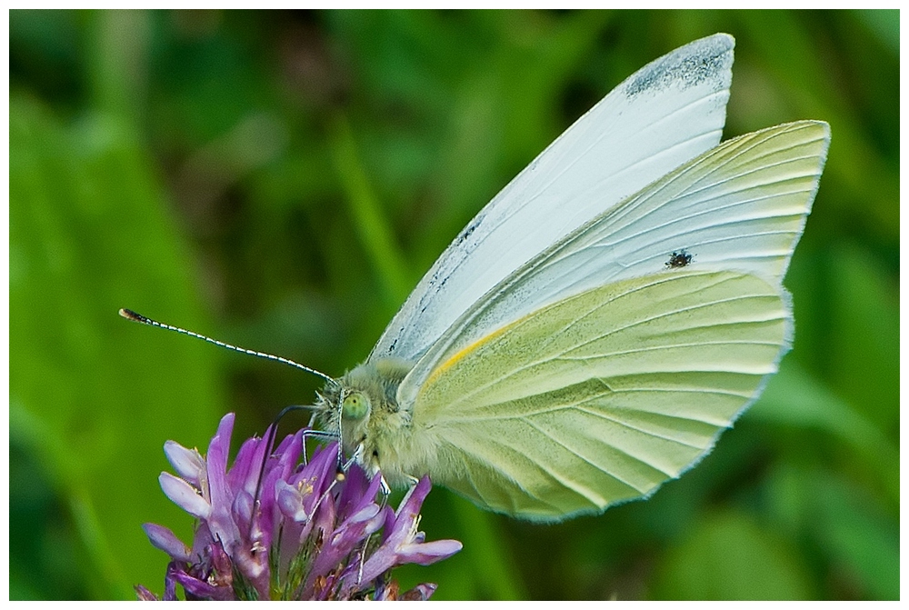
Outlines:
{"label": "pale yellow-green hindwing of the butterfly, lowest wing, without black spot", "polygon": [[436,368],[415,431],[437,482],[558,520],[647,495],[714,445],[776,370],[791,315],[754,275],[671,270],[585,291]]}

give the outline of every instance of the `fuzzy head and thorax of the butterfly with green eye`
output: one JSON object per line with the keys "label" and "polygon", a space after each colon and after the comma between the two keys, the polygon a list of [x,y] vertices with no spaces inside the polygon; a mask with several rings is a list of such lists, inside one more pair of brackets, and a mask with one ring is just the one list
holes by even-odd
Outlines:
{"label": "fuzzy head and thorax of the butterfly with green eye", "polygon": [[411,477],[407,459],[413,452],[412,412],[397,402],[397,389],[411,363],[383,358],[357,366],[328,384],[320,397],[326,432],[340,432],[345,455],[355,456],[366,472],[382,472],[389,485],[406,485]]}

